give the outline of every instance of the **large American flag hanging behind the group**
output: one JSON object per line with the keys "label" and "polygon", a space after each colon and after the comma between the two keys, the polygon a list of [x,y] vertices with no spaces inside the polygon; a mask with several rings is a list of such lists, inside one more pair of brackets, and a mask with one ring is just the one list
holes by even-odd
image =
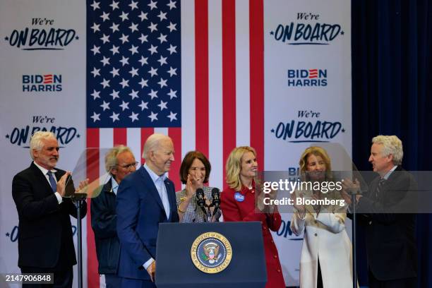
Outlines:
{"label": "large American flag hanging behind the group", "polygon": [[[236,146],[256,148],[263,167],[263,10],[263,0],[88,0],[87,147],[128,145],[143,163],[146,138],[164,133],[176,190],[190,150],[208,156],[210,186],[224,187]],[[87,219],[88,287],[100,287]]]}

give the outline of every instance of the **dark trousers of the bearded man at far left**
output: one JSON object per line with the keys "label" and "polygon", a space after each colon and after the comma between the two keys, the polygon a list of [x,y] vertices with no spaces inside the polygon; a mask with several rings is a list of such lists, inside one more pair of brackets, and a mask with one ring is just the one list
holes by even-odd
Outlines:
{"label": "dark trousers of the bearded man at far left", "polygon": [[54,284],[23,284],[23,288],[71,288],[73,282],[73,269],[54,270],[53,268],[22,267],[22,273],[54,273]]}

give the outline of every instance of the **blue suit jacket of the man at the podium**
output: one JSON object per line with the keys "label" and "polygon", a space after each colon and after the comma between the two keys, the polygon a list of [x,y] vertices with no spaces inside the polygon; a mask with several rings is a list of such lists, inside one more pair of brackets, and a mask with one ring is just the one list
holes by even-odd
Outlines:
{"label": "blue suit jacket of the man at the podium", "polygon": [[159,193],[144,167],[123,179],[117,191],[117,234],[121,243],[119,276],[150,280],[143,264],[156,259],[159,223],[179,222],[174,183],[166,179],[170,215],[162,205]]}

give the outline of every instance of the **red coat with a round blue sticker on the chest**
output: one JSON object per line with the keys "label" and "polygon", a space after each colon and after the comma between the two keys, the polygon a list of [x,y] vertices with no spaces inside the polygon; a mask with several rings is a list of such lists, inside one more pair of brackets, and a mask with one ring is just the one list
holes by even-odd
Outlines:
{"label": "red coat with a round blue sticker on the chest", "polygon": [[[239,195],[240,194],[240,195]],[[243,187],[236,196],[236,191],[232,188],[225,189],[221,194],[220,208],[224,221],[259,221],[263,226],[263,239],[265,251],[265,263],[267,265],[267,284],[266,288],[285,288],[282,268],[280,266],[279,255],[273,241],[272,231],[277,231],[282,224],[277,209],[272,214],[255,212],[255,188]],[[244,196],[244,198],[242,197]],[[241,201],[244,199],[243,201]]]}

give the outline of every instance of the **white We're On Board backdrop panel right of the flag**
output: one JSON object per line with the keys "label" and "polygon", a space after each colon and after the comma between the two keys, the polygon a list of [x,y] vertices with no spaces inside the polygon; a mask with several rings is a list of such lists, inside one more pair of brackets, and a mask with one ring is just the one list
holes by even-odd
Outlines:
{"label": "white We're On Board backdrop panel right of the flag", "polygon": [[[350,2],[265,1],[264,11],[265,170],[295,174],[301,152],[320,141],[351,155]],[[289,230],[291,215],[282,220],[275,242],[294,285],[303,241]]]}

